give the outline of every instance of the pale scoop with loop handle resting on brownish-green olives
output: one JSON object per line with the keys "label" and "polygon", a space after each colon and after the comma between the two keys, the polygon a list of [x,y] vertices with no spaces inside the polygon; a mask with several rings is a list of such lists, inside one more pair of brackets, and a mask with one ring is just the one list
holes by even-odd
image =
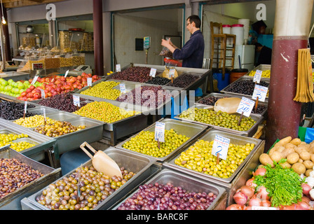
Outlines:
{"label": "pale scoop with loop handle resting on brownish-green olives", "polygon": [[[95,155],[91,155],[85,148],[87,146],[90,151],[93,151]],[[95,148],[90,146],[86,141],[81,144],[80,148],[92,159],[93,167],[97,170],[97,172],[102,172],[108,176],[121,176],[120,167],[112,160],[106,153],[103,151],[96,151]]]}

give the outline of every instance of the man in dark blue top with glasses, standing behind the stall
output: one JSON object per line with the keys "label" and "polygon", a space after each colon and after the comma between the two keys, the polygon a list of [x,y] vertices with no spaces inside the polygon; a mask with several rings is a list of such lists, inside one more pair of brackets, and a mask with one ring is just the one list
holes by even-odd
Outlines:
{"label": "man in dark blue top with glasses, standing behind the stall", "polygon": [[172,52],[174,59],[182,60],[182,67],[201,69],[203,66],[205,44],[203,34],[200,31],[200,18],[198,15],[191,15],[187,18],[186,29],[191,33],[191,37],[182,49],[177,48],[170,41],[170,38],[168,40],[162,39],[161,45]]}

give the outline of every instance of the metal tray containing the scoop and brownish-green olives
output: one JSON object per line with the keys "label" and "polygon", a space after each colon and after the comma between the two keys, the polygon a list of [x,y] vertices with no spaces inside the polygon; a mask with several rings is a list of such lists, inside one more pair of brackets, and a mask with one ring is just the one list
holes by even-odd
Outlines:
{"label": "metal tray containing the scoop and brownish-green olives", "polygon": [[[94,210],[102,210],[102,209],[108,209],[111,207],[117,200],[119,200],[121,197],[126,195],[130,192],[131,189],[135,188],[139,185],[139,183],[142,183],[142,181],[146,180],[156,172],[156,169],[152,169],[152,166],[156,160],[152,160],[150,158],[146,158],[141,155],[133,155],[130,152],[121,151],[118,148],[110,147],[104,150],[104,153],[106,153],[111,159],[113,159],[119,167],[124,167],[129,172],[133,172],[136,175],[132,177],[129,181],[127,181],[123,186],[118,188],[118,190],[114,191],[107,199],[100,202],[100,204],[95,207]],[[83,164],[83,167],[85,166],[91,166],[93,165],[92,160],[88,160],[86,163]],[[64,176],[69,176],[75,172],[75,169],[69,172],[68,174],[65,174]],[[62,176],[57,181],[63,179]],[[34,209],[34,206],[36,207],[36,210],[49,210],[47,207],[44,207],[42,204],[39,204],[39,202],[36,202],[36,197],[40,196],[43,190],[45,190],[48,186],[45,186],[38,192],[34,193],[33,195],[30,195],[27,197],[27,202],[33,205],[33,207],[23,207],[23,209]],[[26,203],[22,204],[26,205]]]}

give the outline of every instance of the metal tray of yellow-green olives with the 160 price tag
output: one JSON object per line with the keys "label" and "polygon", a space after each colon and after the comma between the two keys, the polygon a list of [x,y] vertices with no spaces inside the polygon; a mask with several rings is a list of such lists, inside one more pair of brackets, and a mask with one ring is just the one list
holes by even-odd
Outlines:
{"label": "metal tray of yellow-green olives with the 160 price tag", "polygon": [[[156,160],[163,162],[165,160],[168,160],[168,158],[170,158],[172,155],[174,155],[175,153],[180,151],[185,146],[189,145],[191,143],[191,141],[196,139],[200,134],[205,132],[205,130],[207,129],[206,125],[186,123],[186,122],[183,122],[181,120],[175,120],[175,119],[170,119],[170,118],[162,118],[161,120],[158,120],[158,122],[165,123],[165,130],[173,129],[178,134],[185,135],[186,137],[189,137],[190,139],[188,139],[186,142],[184,142],[184,144],[182,144],[181,146],[179,146],[178,148],[176,148],[174,151],[172,151],[171,153],[169,153],[168,155],[166,155],[163,158],[156,158],[156,157],[153,157],[151,155],[145,155],[143,153],[138,153],[135,151],[131,151],[127,148],[123,148],[123,144],[125,144],[125,142],[127,142],[127,141],[130,141],[130,139],[134,138],[137,134],[126,139],[125,141],[122,141],[121,143],[119,143],[116,146],[116,148],[121,148],[125,151],[131,151],[132,153],[137,154],[137,155],[139,154],[139,155],[144,155],[144,156],[149,157],[149,158],[155,158]],[[146,129],[144,129],[143,132],[146,132],[146,131],[155,132],[155,126],[156,126],[156,123],[153,123],[153,125],[150,125]]]}

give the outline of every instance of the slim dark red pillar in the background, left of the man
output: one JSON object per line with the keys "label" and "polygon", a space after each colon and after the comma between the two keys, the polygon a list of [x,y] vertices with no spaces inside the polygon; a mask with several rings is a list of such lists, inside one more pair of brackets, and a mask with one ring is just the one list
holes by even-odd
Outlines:
{"label": "slim dark red pillar in the background, left of the man", "polygon": [[102,42],[102,0],[93,0],[95,75],[104,76],[104,48]]}

